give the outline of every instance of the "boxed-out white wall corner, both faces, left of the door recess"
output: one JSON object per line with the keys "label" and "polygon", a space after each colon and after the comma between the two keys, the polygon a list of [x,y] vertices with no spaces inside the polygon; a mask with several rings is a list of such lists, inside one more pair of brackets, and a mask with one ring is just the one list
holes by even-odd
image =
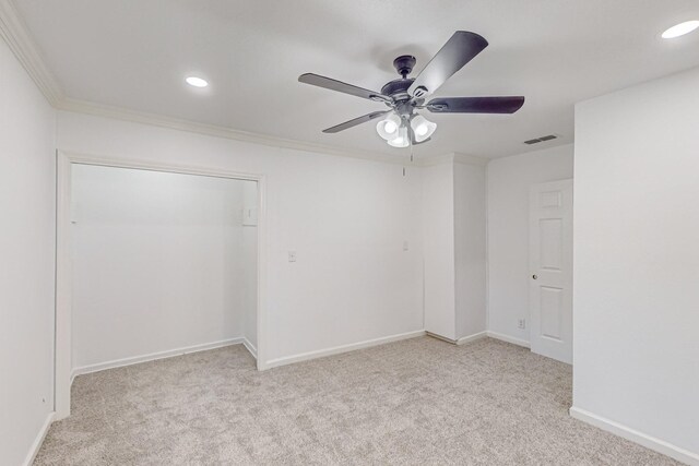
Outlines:
{"label": "boxed-out white wall corner, both faces, left of the door recess", "polygon": [[425,330],[450,340],[486,330],[485,194],[484,164],[423,168]]}

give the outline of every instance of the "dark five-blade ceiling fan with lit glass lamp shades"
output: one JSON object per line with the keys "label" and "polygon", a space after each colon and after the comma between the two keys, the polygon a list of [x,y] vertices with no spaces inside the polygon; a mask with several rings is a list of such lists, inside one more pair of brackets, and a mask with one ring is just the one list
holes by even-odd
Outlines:
{"label": "dark five-blade ceiling fan with lit glass lamp shades", "polygon": [[428,121],[416,110],[427,109],[434,113],[514,113],[524,105],[524,97],[441,97],[427,103],[449,77],[461,70],[488,46],[488,41],[475,33],[457,31],[417,77],[407,77],[415,67],[415,57],[403,55],[393,60],[393,67],[401,75],[381,87],[381,92],[369,91],[313,73],[298,76],[298,81],[313,86],[337,91],[357,97],[386,104],[389,109],[372,111],[323,130],[337,133],[377,118],[377,132],[393,147],[407,147],[430,140],[437,124]]}

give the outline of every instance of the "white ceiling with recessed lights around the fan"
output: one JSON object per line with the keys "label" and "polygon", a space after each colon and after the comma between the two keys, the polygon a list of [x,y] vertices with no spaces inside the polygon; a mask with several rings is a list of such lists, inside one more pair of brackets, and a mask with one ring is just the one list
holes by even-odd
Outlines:
{"label": "white ceiling with recessed lights around the fan", "polygon": [[[15,0],[71,98],[236,130],[404,155],[366,123],[382,104],[297,82],[315,72],[380,89],[392,60],[419,70],[454,31],[490,46],[436,96],[524,95],[513,116],[431,115],[418,156],[500,157],[572,141],[573,104],[699,64],[697,0]],[[187,75],[211,85],[194,89]],[[558,134],[533,147],[524,140]]]}

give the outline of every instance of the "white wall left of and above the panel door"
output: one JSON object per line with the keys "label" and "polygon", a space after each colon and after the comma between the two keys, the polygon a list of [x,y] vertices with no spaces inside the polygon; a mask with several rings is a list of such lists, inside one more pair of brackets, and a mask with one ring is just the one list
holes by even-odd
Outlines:
{"label": "white wall left of and above the panel door", "polygon": [[573,146],[488,163],[488,330],[529,342],[529,188],[572,178]]}

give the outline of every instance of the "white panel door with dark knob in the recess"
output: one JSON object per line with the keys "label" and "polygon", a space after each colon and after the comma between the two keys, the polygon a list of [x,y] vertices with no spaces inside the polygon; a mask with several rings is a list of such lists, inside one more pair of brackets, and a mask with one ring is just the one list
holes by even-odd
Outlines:
{"label": "white panel door with dark knob in the recess", "polygon": [[572,180],[530,190],[532,351],[572,363]]}

